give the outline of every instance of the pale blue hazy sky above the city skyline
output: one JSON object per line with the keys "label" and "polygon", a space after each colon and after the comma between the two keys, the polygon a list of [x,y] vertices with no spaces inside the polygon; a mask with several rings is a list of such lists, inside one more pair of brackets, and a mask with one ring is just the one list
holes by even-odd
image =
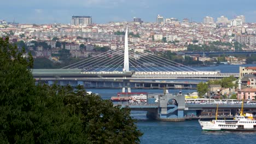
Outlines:
{"label": "pale blue hazy sky above the city skyline", "polygon": [[71,23],[71,17],[92,16],[93,23],[155,22],[156,16],[202,22],[211,16],[228,19],[245,15],[256,22],[255,0],[0,0],[0,20],[19,23]]}

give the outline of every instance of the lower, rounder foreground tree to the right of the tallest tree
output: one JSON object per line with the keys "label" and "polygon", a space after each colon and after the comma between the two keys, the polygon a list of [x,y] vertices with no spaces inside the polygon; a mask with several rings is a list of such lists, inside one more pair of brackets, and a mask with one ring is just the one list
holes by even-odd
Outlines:
{"label": "lower, rounder foreground tree to the right of the tallest tree", "polygon": [[142,135],[128,107],[113,106],[95,94],[86,94],[83,86],[69,91],[64,99],[71,113],[80,116],[86,137],[92,143],[139,143]]}

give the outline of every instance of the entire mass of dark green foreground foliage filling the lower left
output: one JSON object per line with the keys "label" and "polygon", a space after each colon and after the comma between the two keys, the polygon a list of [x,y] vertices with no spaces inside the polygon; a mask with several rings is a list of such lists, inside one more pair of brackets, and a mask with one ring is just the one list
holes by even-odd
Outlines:
{"label": "entire mass of dark green foreground foliage filling the lower left", "polygon": [[0,38],[1,143],[139,143],[128,107],[82,86],[35,85],[33,58]]}

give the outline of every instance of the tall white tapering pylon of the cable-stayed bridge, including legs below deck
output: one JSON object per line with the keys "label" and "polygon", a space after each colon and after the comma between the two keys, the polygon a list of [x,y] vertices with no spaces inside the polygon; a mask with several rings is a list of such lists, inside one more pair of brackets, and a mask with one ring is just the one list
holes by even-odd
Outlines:
{"label": "tall white tapering pylon of the cable-stayed bridge, including legs below deck", "polygon": [[[126,28],[126,32],[125,32],[125,49],[124,49],[124,69],[123,71],[129,72],[129,49],[128,49],[128,27]],[[127,85],[127,86],[126,86]],[[127,92],[130,93],[131,92],[131,87],[130,87],[130,80],[125,80],[125,77],[123,77],[123,88],[122,88],[122,92],[125,92],[125,89],[127,87]]]}

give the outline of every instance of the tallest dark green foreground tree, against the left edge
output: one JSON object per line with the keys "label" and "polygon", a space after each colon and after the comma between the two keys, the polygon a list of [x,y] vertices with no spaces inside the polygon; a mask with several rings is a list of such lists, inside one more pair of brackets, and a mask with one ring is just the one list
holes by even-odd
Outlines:
{"label": "tallest dark green foreground tree, against the left edge", "polygon": [[[82,143],[82,122],[68,115],[54,87],[35,86],[33,58],[0,38],[1,143]],[[55,97],[56,96],[56,97]]]}

